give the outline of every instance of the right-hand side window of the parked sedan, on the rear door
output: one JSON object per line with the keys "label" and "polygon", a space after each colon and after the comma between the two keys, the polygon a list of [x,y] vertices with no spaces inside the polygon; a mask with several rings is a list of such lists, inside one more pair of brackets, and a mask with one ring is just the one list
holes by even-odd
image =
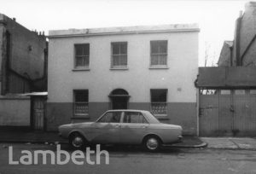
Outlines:
{"label": "right-hand side window of the parked sedan, on the rear door", "polygon": [[148,123],[142,113],[125,112],[124,123]]}

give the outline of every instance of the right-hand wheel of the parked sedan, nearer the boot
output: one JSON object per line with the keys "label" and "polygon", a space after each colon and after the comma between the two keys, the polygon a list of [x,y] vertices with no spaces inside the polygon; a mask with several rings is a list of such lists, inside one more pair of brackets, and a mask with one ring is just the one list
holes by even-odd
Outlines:
{"label": "right-hand wheel of the parked sedan, nearer the boot", "polygon": [[143,146],[149,152],[156,152],[160,149],[161,142],[157,136],[148,136],[145,138]]}

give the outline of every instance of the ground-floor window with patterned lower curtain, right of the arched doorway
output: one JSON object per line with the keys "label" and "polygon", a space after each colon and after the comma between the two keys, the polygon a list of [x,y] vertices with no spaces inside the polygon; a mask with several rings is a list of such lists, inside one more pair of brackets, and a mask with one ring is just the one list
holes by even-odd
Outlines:
{"label": "ground-floor window with patterned lower curtain, right of the arched doorway", "polygon": [[167,115],[167,89],[151,89],[151,112],[155,116]]}

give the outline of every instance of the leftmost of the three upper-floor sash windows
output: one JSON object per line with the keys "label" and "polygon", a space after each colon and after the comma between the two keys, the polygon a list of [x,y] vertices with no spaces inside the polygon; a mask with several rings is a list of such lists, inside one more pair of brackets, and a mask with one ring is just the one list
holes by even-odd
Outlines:
{"label": "leftmost of the three upper-floor sash windows", "polygon": [[90,44],[75,44],[75,67],[89,67]]}

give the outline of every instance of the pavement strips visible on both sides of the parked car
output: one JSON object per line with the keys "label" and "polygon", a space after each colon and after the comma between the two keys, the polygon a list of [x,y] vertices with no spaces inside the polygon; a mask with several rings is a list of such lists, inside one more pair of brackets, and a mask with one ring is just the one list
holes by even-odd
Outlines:
{"label": "pavement strips visible on both sides of the parked car", "polygon": [[[67,143],[56,131],[0,130],[0,142]],[[223,148],[256,150],[256,137],[198,137],[183,136],[183,142],[170,145],[174,148]]]}

